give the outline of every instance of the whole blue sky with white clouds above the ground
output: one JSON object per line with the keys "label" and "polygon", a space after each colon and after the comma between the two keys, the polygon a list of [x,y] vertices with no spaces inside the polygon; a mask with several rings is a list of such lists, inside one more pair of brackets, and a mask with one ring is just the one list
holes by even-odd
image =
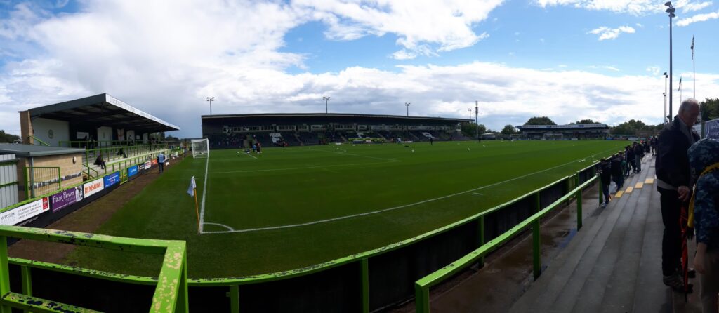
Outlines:
{"label": "whole blue sky with white clouds above the ground", "polygon": [[[682,78],[719,98],[719,3],[674,3]],[[649,0],[0,0],[0,129],[36,106],[109,93],[199,136],[212,112],[469,118],[501,129],[659,123],[669,17]]]}

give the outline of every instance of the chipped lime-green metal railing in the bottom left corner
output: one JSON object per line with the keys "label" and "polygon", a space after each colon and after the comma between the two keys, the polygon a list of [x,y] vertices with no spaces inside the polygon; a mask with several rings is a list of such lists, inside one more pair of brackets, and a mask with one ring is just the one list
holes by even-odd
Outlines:
{"label": "chipped lime-green metal railing in the bottom left corner", "polygon": [[[37,268],[39,267],[37,266],[38,264],[42,264],[42,268],[47,266],[55,267],[56,265],[22,259],[9,259],[7,255],[7,238],[9,237],[164,255],[158,279],[139,279],[140,276],[130,279],[156,286],[149,312],[188,312],[187,251],[184,241],[123,238],[65,230],[0,225],[0,312],[2,313],[11,312],[11,307],[32,310],[32,312],[92,312],[88,309],[32,296],[32,271],[30,271],[30,268]],[[22,293],[10,291],[8,263],[11,262],[20,266]],[[68,266],[60,266],[60,268],[63,270],[69,269]],[[78,268],[72,268],[70,271],[72,274],[80,275],[89,272],[89,270]]]}

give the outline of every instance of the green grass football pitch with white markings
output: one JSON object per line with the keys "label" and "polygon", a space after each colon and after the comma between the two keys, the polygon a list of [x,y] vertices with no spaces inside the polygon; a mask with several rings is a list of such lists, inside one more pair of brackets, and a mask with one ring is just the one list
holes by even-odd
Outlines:
{"label": "green grass football pitch with white markings", "polygon": [[[623,141],[446,141],[212,150],[173,164],[97,233],[186,240],[191,277],[286,271],[380,248],[574,174]],[[151,173],[152,174],[152,173]],[[155,173],[156,175],[156,173]],[[187,194],[196,177],[201,207]],[[78,247],[68,263],[156,275],[160,258]]]}

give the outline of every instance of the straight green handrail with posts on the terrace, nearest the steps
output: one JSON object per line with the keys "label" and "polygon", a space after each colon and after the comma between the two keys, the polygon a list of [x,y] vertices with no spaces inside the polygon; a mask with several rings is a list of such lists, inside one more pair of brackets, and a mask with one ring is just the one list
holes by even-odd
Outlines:
{"label": "straight green handrail with posts on the terrace, nearest the steps", "polygon": [[[502,246],[504,243],[508,242],[510,239],[514,238],[516,235],[522,233],[526,228],[532,228],[532,266],[533,266],[533,276],[536,280],[539,278],[539,275],[541,275],[541,237],[539,230],[541,228],[540,220],[545,215],[547,215],[551,210],[556,209],[560,205],[562,205],[563,202],[570,200],[572,197],[577,198],[577,229],[582,228],[582,191],[589,186],[590,184],[593,184],[598,179],[598,176],[595,175],[595,177],[592,177],[591,179],[588,179],[583,184],[580,184],[579,186],[575,187],[574,189],[570,190],[566,195],[560,197],[556,201],[552,202],[551,205],[545,207],[544,209],[541,208],[541,204],[539,201],[539,190],[536,192],[533,192],[534,197],[536,198],[536,213],[532,215],[531,217],[527,218],[526,220],[523,220],[518,225],[514,226],[513,228],[510,228],[505,233],[499,235],[497,238],[494,238],[493,240],[490,240],[487,243],[482,244],[480,248],[475,249],[475,251],[472,251],[465,255],[464,257],[460,258],[457,261],[454,261],[450,263],[447,266],[444,266],[443,268],[440,268],[439,270],[435,271],[434,273],[431,273],[427,276],[424,276],[423,278],[419,279],[415,282],[415,308],[416,312],[421,313],[428,313],[429,312],[429,288],[431,286],[435,286],[437,284],[440,284],[442,281],[445,281],[446,279],[449,279],[450,277],[454,276],[454,274],[459,273],[459,271],[462,271],[464,268],[467,268],[471,266],[472,264],[477,263],[477,261],[482,261],[482,258],[484,258],[488,253],[494,251],[495,249]],[[568,179],[567,182],[574,180],[575,184],[579,184],[579,172],[577,172],[577,175],[574,176],[574,179]],[[601,187],[600,187],[600,194],[601,194]],[[529,194],[528,194],[529,195]],[[522,197],[523,198],[523,197]],[[516,200],[513,200],[514,202]],[[505,205],[509,205],[512,202],[508,202]],[[501,205],[501,207],[505,206]],[[482,215],[486,215],[489,211],[482,212]],[[480,228],[483,226],[484,220],[480,219]]]}

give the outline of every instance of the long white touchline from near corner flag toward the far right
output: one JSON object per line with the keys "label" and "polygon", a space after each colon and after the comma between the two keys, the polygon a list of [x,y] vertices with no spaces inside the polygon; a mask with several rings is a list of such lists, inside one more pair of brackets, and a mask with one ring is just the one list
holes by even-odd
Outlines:
{"label": "long white touchline from near corner flag toward the far right", "polygon": [[[614,148],[612,148],[612,149],[607,149],[607,150],[605,150],[605,151],[601,151],[601,152],[599,152],[599,153],[597,153],[597,154],[603,154],[603,153],[605,153],[605,152],[607,152],[607,151],[612,151],[612,150],[614,150]],[[595,156],[595,155],[597,155],[597,154],[592,154],[592,156]],[[329,219],[326,219],[326,220],[315,220],[315,221],[313,221],[313,222],[301,223],[301,224],[282,225],[282,226],[263,227],[263,228],[248,228],[248,229],[239,229],[239,230],[206,231],[206,232],[201,232],[201,233],[249,233],[249,232],[260,231],[260,230],[276,230],[276,229],[283,229],[283,228],[296,228],[296,227],[307,226],[307,225],[314,225],[314,224],[321,224],[321,223],[329,223],[329,222],[334,222],[334,221],[336,221],[336,220],[345,220],[345,219],[347,219],[347,218],[357,218],[357,217],[359,217],[359,216],[365,216],[365,215],[371,215],[371,214],[376,214],[376,213],[381,213],[381,212],[387,212],[387,211],[397,210],[397,209],[401,209],[401,208],[403,208],[403,207],[411,207],[411,206],[414,206],[414,205],[421,205],[421,204],[426,203],[426,202],[432,202],[432,201],[436,201],[436,200],[446,199],[446,198],[448,198],[448,197],[454,197],[454,196],[456,196],[456,195],[462,195],[462,194],[465,194],[465,193],[467,193],[467,192],[475,192],[475,191],[477,191],[477,190],[482,190],[482,189],[485,189],[485,188],[488,188],[488,187],[493,187],[493,186],[496,186],[496,185],[498,185],[498,184],[504,184],[505,182],[512,182],[512,181],[515,181],[515,180],[517,180],[517,179],[521,179],[521,178],[524,178],[524,177],[531,176],[531,175],[533,175],[533,174],[539,174],[539,173],[541,173],[541,172],[546,172],[546,171],[549,171],[549,170],[551,170],[551,169],[556,169],[557,167],[564,167],[564,166],[567,166],[567,165],[572,164],[572,163],[574,163],[574,162],[577,162],[577,160],[574,160],[574,161],[572,161],[572,162],[567,162],[567,163],[564,163],[564,164],[560,164],[560,165],[557,165],[556,167],[551,167],[551,168],[549,168],[549,169],[542,169],[541,171],[537,171],[537,172],[533,172],[533,173],[529,173],[529,174],[524,174],[524,175],[522,175],[522,176],[514,177],[514,178],[512,178],[512,179],[507,179],[507,180],[505,180],[505,181],[503,181],[503,182],[495,182],[494,184],[487,184],[486,186],[477,187],[477,188],[472,189],[472,190],[465,190],[465,191],[463,191],[463,192],[453,193],[452,195],[446,195],[446,196],[442,196],[442,197],[436,197],[436,198],[434,198],[434,199],[422,200],[422,201],[419,201],[419,202],[410,203],[410,204],[408,204],[408,205],[400,205],[400,206],[397,206],[397,207],[389,207],[389,208],[383,209],[383,210],[377,210],[377,211],[372,211],[372,212],[365,212],[365,213],[359,213],[359,214],[354,214],[354,215],[341,216],[341,217],[339,217],[339,218],[329,218]],[[631,187],[630,187],[630,188],[631,188]]]}

